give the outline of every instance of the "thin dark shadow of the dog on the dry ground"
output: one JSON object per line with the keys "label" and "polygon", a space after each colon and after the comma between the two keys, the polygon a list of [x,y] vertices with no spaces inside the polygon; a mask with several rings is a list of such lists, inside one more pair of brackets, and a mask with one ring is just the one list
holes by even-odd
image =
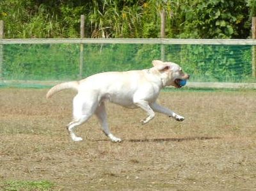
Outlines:
{"label": "thin dark shadow of the dog on the dry ground", "polygon": [[[180,137],[180,138],[123,139],[122,142],[182,142],[182,141],[196,141],[196,140],[203,141],[203,140],[211,140],[211,139],[221,139],[221,137],[194,136],[194,137]],[[98,139],[93,141],[95,142],[109,141],[109,139]]]}

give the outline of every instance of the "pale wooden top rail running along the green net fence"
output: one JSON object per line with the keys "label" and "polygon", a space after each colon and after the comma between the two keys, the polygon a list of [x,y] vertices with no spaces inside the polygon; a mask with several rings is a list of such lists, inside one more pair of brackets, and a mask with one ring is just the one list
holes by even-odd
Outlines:
{"label": "pale wooden top rail running along the green net fence", "polygon": [[169,38],[29,38],[0,39],[0,44],[125,43],[173,45],[256,45],[252,39],[169,39]]}

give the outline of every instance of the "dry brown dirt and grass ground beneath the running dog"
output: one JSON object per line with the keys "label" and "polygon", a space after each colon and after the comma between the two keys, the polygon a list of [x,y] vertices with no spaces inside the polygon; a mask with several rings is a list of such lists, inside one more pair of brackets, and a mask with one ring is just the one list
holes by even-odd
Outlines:
{"label": "dry brown dirt and grass ground beneath the running dog", "polygon": [[256,190],[256,91],[161,92],[163,114],[108,103],[113,143],[97,118],[72,142],[72,91],[0,89],[0,190],[7,181],[50,181],[51,190]]}

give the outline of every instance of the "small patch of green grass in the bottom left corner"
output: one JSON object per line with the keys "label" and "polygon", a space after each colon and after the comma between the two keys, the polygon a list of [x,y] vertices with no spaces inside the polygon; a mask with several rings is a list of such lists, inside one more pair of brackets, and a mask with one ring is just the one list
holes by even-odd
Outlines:
{"label": "small patch of green grass in the bottom left corner", "polygon": [[54,183],[49,181],[5,181],[0,188],[6,191],[47,191],[52,187]]}

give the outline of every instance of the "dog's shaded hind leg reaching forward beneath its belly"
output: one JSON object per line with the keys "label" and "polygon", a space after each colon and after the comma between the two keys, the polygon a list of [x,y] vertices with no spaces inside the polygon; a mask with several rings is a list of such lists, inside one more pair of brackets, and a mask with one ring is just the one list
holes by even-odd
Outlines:
{"label": "dog's shaded hind leg reaching forward beneath its belly", "polygon": [[101,123],[102,130],[103,130],[104,134],[107,135],[112,142],[121,142],[122,139],[120,139],[118,137],[115,137],[109,131],[108,121],[107,121],[107,114],[106,114],[106,109],[105,109],[104,102],[100,103],[99,107],[97,107],[97,109],[96,109],[95,114],[96,114],[97,118],[99,119],[99,121]]}

